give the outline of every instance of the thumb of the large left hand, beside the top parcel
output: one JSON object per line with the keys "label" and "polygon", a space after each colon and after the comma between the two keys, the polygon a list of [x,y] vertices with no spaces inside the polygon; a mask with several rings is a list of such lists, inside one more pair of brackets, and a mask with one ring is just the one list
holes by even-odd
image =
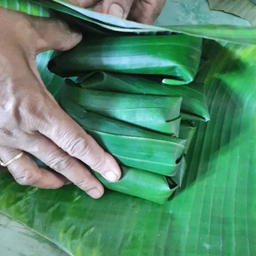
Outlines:
{"label": "thumb of the large left hand, beside the top parcel", "polygon": [[82,39],[80,32],[71,29],[62,20],[35,16],[30,18],[38,36],[38,53],[48,50],[66,51],[75,47]]}

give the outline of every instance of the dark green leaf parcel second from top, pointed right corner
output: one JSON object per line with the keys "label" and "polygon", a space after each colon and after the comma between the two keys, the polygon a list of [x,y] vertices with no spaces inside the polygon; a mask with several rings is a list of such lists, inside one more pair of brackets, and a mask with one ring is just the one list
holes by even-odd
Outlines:
{"label": "dark green leaf parcel second from top, pointed right corner", "polygon": [[210,119],[203,84],[200,83],[169,86],[152,76],[148,78],[101,71],[73,78],[73,81],[82,88],[92,90],[182,97],[180,108],[183,120],[209,121]]}

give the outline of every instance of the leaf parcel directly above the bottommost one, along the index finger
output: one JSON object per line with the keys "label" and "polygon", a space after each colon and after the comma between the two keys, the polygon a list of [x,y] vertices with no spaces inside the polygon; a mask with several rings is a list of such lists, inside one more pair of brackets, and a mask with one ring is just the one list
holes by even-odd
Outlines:
{"label": "leaf parcel directly above the bottommost one, along the index finger", "polygon": [[60,104],[119,163],[173,176],[180,167],[186,140],[129,125],[85,111],[60,96]]}

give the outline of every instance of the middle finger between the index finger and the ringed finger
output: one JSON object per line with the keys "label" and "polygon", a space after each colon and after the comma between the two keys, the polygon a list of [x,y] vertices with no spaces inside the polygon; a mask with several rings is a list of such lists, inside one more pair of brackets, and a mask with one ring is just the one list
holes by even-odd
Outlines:
{"label": "middle finger between the index finger and the ringed finger", "polygon": [[44,162],[51,169],[67,177],[80,189],[87,192],[92,198],[100,198],[104,193],[104,188],[99,180],[76,158],[71,157],[55,145],[47,137],[41,134],[29,137],[33,141],[27,148],[30,154]]}

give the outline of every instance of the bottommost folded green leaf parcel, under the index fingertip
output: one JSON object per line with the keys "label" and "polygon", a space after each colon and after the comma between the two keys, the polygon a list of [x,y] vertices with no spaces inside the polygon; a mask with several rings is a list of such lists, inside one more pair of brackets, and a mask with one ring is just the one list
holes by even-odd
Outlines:
{"label": "bottommost folded green leaf parcel, under the index fingertip", "polygon": [[94,173],[108,189],[158,204],[165,203],[177,189],[177,185],[168,177],[126,166],[122,167],[121,179],[115,183],[108,182],[99,173]]}

